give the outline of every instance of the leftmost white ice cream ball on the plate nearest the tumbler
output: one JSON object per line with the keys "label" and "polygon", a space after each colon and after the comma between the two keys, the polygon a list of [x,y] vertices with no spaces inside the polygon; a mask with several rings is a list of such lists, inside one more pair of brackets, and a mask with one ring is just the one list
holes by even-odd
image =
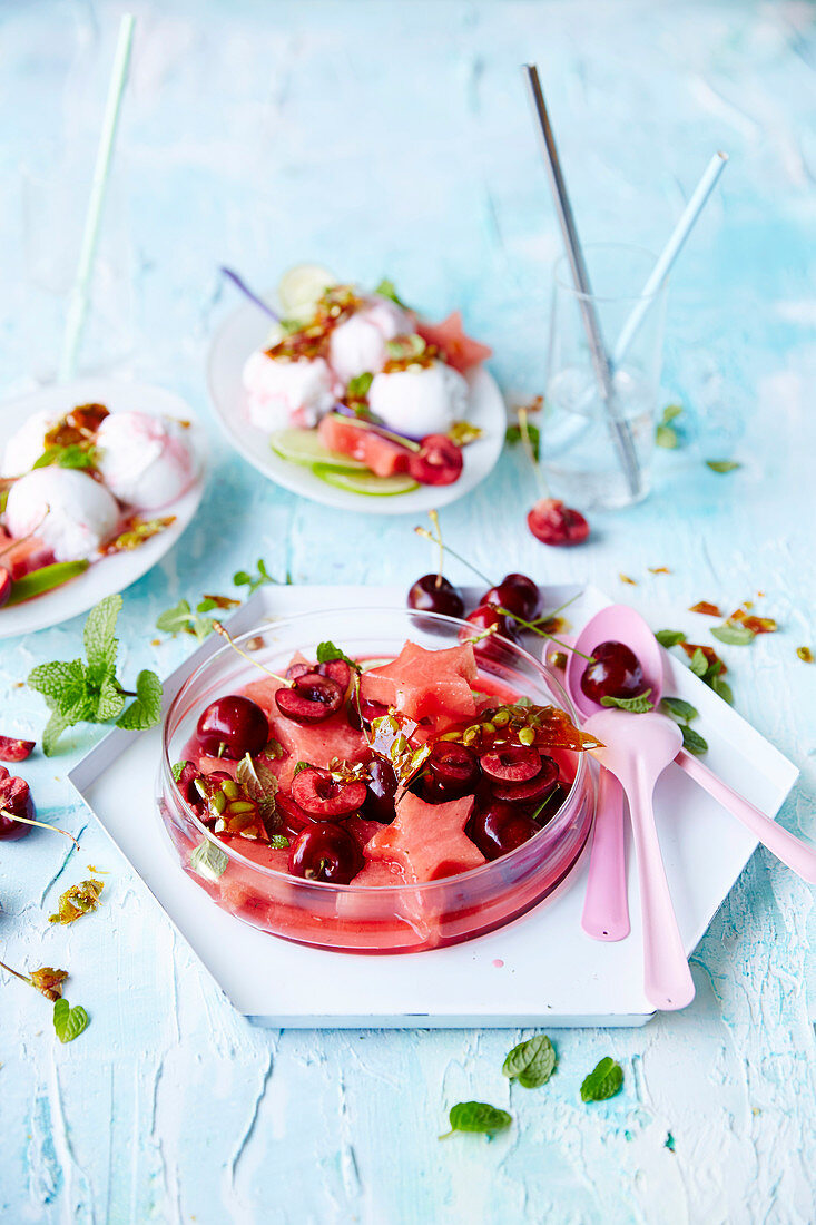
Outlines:
{"label": "leftmost white ice cream ball on the plate nearest the tumbler", "polygon": [[323,358],[270,358],[259,349],[244,366],[249,413],[259,430],[311,428],[334,407],[334,380]]}

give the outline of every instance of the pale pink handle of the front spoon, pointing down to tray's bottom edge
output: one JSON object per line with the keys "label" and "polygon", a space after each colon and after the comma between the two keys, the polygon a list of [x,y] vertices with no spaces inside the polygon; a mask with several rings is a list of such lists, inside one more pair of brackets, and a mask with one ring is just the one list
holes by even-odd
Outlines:
{"label": "pale pink handle of the front spoon, pointing down to tray's bottom edge", "polygon": [[643,986],[655,1008],[685,1008],[695,997],[695,985],[663,867],[652,784],[644,780],[641,771],[636,773],[632,793],[629,810],[643,915]]}

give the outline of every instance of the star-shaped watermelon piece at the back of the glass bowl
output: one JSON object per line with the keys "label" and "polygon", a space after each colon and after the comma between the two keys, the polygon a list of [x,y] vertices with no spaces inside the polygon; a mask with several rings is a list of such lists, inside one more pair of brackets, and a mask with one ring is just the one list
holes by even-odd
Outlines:
{"label": "star-shaped watermelon piece at the back of the glass bowl", "polygon": [[418,722],[442,715],[456,723],[475,714],[470,692],[475,679],[477,663],[469,642],[446,650],[425,650],[407,642],[392,663],[365,673],[361,693],[371,702],[396,706]]}

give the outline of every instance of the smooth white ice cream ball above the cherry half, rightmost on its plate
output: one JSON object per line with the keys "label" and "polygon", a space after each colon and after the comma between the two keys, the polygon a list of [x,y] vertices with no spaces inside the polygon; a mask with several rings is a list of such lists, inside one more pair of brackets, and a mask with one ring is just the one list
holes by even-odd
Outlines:
{"label": "smooth white ice cream ball above the cherry half, rightmost on its plate", "polygon": [[466,414],[468,385],[452,366],[434,361],[374,376],[369,408],[375,417],[410,437],[445,434]]}

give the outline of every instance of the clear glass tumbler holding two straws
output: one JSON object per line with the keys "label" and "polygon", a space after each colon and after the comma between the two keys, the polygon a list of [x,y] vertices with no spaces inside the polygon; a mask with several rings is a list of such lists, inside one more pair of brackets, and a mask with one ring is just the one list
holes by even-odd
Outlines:
{"label": "clear glass tumbler holding two straws", "polygon": [[[667,284],[643,296],[655,257],[640,247],[591,244],[584,256],[592,294],[576,290],[566,257],[554,270],[542,467],[554,496],[580,510],[615,510],[641,501],[651,488]],[[611,394],[593,366],[587,305],[610,358]],[[641,315],[640,326],[616,354],[633,311]],[[632,484],[621,459],[624,445],[635,459]]]}

